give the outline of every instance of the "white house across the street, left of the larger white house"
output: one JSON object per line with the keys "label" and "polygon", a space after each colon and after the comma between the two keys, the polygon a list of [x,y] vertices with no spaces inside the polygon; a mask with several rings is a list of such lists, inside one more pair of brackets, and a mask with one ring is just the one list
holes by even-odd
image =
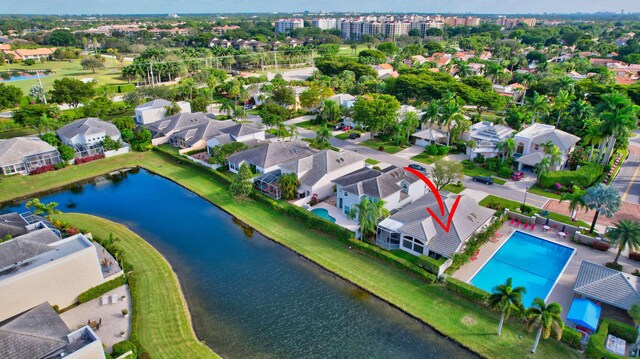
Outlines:
{"label": "white house across the street, left of the larger white house", "polygon": [[471,126],[468,133],[463,135],[465,141],[473,140],[476,147],[467,147],[467,156],[470,159],[483,155],[485,158],[496,157],[498,142],[513,137],[515,132],[511,127],[505,125],[496,125],[493,122],[481,121]]}

